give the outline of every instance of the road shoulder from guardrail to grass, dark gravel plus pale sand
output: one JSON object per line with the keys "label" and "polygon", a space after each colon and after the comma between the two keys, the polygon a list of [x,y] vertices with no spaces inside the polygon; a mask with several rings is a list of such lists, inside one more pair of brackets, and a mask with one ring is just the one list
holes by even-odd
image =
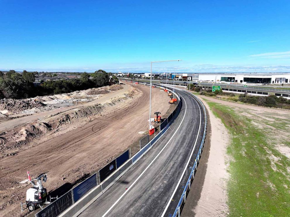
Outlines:
{"label": "road shoulder from guardrail to grass, dark gravel plus pale sand", "polygon": [[[202,100],[202,99],[201,99]],[[202,100],[208,114],[208,129],[203,153],[182,216],[226,216],[227,129]]]}

